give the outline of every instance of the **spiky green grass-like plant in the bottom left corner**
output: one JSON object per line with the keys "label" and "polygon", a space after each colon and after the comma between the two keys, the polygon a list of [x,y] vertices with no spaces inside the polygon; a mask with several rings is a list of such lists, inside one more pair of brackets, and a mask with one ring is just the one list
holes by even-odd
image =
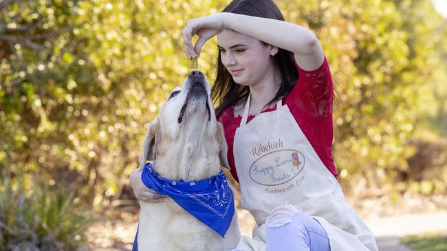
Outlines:
{"label": "spiky green grass-like plant in the bottom left corner", "polygon": [[74,191],[29,178],[2,172],[0,249],[74,250],[93,223],[90,211]]}

